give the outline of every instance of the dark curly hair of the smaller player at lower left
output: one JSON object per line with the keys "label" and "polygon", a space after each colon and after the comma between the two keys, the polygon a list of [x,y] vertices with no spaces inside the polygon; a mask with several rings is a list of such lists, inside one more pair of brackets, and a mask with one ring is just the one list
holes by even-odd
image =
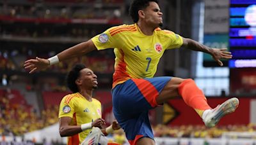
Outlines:
{"label": "dark curly hair of the smaller player at lower left", "polygon": [[80,71],[82,69],[86,68],[84,64],[76,64],[70,72],[68,72],[67,77],[66,77],[66,83],[68,88],[73,92],[79,92],[78,87],[76,85],[76,79],[80,76]]}

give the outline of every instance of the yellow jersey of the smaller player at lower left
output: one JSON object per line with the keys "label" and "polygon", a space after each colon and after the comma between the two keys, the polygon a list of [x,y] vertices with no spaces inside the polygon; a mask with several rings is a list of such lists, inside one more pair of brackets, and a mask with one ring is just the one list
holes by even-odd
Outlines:
{"label": "yellow jersey of the smaller player at lower left", "polygon": [[[90,123],[102,117],[101,104],[97,99],[92,99],[92,102],[89,102],[80,93],[66,95],[60,103],[59,118],[66,116],[72,118],[70,125]],[[81,144],[90,131],[91,129],[84,130],[79,134],[68,137],[67,144]]]}

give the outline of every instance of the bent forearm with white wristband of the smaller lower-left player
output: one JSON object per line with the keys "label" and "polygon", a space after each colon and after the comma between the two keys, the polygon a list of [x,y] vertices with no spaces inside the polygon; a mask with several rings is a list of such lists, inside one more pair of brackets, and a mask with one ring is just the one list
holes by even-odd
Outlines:
{"label": "bent forearm with white wristband of the smaller lower-left player", "polygon": [[92,127],[101,128],[101,126],[105,124],[105,120],[102,118],[98,118],[93,122],[84,123],[82,125],[70,125],[71,121],[72,118],[70,117],[61,117],[59,119],[59,132],[61,137],[72,136],[83,132],[84,130],[91,129]]}

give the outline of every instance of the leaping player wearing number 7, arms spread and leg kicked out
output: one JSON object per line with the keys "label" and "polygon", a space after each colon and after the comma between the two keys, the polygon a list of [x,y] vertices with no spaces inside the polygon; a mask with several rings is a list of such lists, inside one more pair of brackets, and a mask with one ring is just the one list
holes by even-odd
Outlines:
{"label": "leaping player wearing number 7, arms spread and leg kicked out", "polygon": [[113,112],[130,144],[155,144],[148,110],[173,97],[181,96],[188,106],[195,109],[207,127],[214,127],[225,114],[236,110],[239,104],[236,98],[228,99],[212,109],[193,79],[154,77],[165,50],[184,46],[209,53],[223,66],[220,59],[232,58],[227,49],[209,48],[172,31],[161,30],[159,27],[163,25],[163,13],[157,0],[134,0],[129,13],[134,24],[111,27],[49,59],[36,57],[27,60],[25,69],[31,73],[93,50],[114,48]]}

